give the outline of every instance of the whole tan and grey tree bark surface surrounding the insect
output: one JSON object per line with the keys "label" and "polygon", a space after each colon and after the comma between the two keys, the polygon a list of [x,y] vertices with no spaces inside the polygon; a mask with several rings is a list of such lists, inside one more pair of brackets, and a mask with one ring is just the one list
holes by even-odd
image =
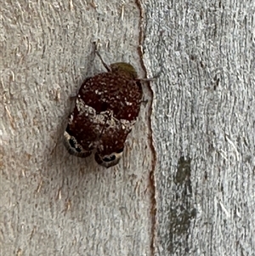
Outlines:
{"label": "whole tan and grey tree bark surface surrounding the insect", "polygon": [[[141,7],[1,3],[1,255],[254,254],[255,2]],[[62,145],[70,96],[105,71],[98,41],[139,77],[143,43],[148,77],[161,72],[109,169]]]}

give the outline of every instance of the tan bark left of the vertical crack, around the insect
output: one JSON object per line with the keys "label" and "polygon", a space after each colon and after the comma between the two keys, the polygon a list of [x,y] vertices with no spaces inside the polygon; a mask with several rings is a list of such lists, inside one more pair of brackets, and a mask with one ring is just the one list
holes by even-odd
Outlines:
{"label": "tan bark left of the vertical crack, around the insect", "polygon": [[62,134],[85,77],[139,59],[133,2],[1,3],[1,255],[146,255],[151,243],[148,111],[115,168],[70,156]]}

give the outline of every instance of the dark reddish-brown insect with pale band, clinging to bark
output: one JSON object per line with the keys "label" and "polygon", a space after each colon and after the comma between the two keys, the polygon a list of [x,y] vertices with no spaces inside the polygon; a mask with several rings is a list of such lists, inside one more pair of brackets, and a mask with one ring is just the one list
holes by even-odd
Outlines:
{"label": "dark reddish-brown insect with pale band, clinging to bark", "polygon": [[143,91],[133,65],[125,62],[107,65],[96,51],[106,72],[88,77],[82,83],[64,133],[71,155],[87,157],[95,151],[99,165],[116,165],[127,135],[139,116]]}

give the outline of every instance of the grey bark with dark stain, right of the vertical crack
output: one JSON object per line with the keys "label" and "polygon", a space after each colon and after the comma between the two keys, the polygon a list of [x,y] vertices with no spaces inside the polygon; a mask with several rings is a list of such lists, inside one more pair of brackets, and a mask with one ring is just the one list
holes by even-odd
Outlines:
{"label": "grey bark with dark stain, right of the vertical crack", "polygon": [[255,2],[150,1],[156,255],[255,254]]}

